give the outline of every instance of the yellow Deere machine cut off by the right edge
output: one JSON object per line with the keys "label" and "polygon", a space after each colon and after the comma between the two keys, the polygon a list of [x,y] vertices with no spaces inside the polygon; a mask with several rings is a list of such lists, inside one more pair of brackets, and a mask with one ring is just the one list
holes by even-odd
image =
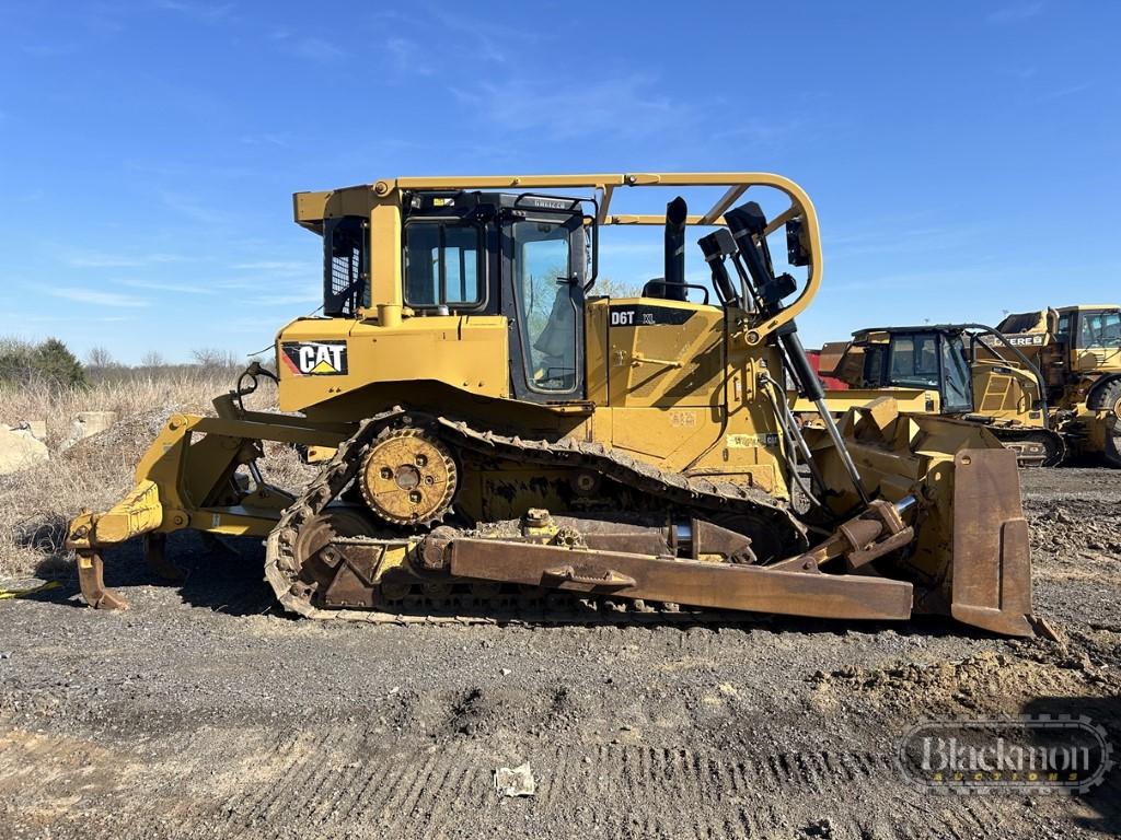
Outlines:
{"label": "yellow Deere machine cut off by the right edge", "polygon": [[1121,307],[1021,312],[997,329],[1043,373],[1069,448],[1121,467]]}

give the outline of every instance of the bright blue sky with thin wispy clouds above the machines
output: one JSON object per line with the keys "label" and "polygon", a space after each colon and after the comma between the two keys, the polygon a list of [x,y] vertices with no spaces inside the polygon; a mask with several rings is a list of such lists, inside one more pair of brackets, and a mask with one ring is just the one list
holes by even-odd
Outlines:
{"label": "bright blue sky with thin wispy clouds above the machines", "polygon": [[1117,302],[1119,31],[1104,0],[7,2],[0,335],[259,351],[317,306],[291,193],[397,175],[787,175],[807,346]]}

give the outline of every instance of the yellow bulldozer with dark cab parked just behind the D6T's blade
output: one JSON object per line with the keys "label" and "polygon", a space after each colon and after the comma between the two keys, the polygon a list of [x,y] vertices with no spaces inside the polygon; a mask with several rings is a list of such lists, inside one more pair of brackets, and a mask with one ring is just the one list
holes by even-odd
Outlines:
{"label": "yellow bulldozer with dark cab parked just behind the D6T's blade", "polygon": [[[822,371],[847,385],[826,392],[841,413],[880,395],[904,411],[984,426],[1017,454],[1021,467],[1054,467],[1066,438],[1048,411],[1043,374],[1012,339],[983,324],[877,327],[853,333]],[[795,411],[815,417],[806,401]]]}

